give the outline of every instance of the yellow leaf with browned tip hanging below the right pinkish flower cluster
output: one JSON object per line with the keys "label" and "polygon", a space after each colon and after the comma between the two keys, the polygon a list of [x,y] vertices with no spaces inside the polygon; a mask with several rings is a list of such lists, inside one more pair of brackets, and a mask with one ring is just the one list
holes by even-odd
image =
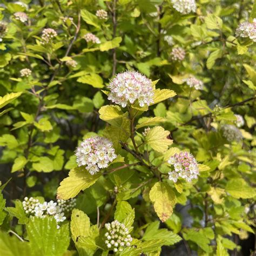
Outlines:
{"label": "yellow leaf with browned tip hanging below the right pinkish flower cluster", "polygon": [[159,181],[151,188],[149,196],[159,219],[163,222],[169,219],[177,202],[172,188],[167,183]]}

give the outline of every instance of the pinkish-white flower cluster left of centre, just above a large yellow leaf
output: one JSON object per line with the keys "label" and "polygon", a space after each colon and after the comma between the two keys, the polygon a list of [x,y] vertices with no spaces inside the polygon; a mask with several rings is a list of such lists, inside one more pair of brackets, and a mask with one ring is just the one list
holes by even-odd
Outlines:
{"label": "pinkish-white flower cluster left of centre, just above a large yellow leaf", "polygon": [[113,144],[109,139],[94,136],[85,139],[76,149],[78,166],[86,166],[85,169],[91,175],[104,169],[116,159]]}

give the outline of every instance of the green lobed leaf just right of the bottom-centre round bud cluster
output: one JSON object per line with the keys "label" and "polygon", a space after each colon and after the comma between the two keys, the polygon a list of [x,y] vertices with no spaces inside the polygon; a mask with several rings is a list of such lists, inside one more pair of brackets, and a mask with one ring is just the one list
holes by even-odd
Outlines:
{"label": "green lobed leaf just right of the bottom-centre round bud cluster", "polygon": [[145,241],[150,241],[161,238],[162,240],[165,240],[165,245],[174,245],[176,242],[181,240],[179,235],[174,234],[166,228],[159,229],[159,224],[159,221],[154,221],[149,226],[147,226],[142,239]]}

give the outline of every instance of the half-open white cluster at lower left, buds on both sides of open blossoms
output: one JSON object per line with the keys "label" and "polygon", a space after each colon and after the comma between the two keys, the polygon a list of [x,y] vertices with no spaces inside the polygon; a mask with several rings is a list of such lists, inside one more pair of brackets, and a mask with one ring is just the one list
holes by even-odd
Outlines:
{"label": "half-open white cluster at lower left, buds on both sides of open blossoms", "polygon": [[39,218],[44,218],[46,215],[49,215],[53,216],[57,223],[60,223],[66,219],[64,214],[71,212],[75,207],[76,199],[58,199],[57,203],[51,200],[49,202],[44,201],[44,203],[41,204],[38,199],[25,197],[22,205],[25,213],[28,215]]}

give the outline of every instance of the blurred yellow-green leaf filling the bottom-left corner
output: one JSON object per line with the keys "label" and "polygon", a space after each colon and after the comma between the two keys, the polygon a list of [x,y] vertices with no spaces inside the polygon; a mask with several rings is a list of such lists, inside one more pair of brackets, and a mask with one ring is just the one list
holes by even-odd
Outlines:
{"label": "blurred yellow-green leaf filling the bottom-left corner", "polygon": [[26,255],[32,256],[29,242],[22,242],[15,235],[12,237],[6,233],[0,232],[0,255],[17,256]]}

